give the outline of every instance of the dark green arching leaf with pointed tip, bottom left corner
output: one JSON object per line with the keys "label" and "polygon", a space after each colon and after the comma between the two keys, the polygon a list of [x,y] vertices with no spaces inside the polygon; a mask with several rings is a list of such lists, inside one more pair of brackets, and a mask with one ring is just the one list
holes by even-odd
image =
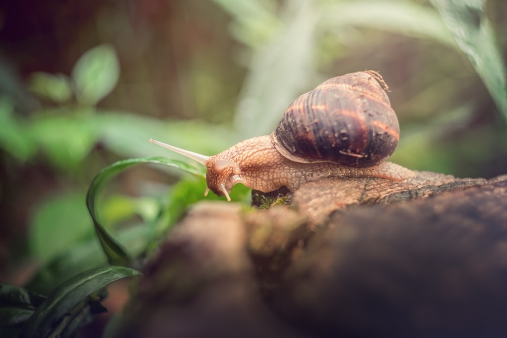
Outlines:
{"label": "dark green arching leaf with pointed tip, bottom left corner", "polygon": [[118,279],[139,275],[125,267],[105,267],[85,271],[59,285],[35,311],[20,334],[23,338],[45,337],[67,312],[88,295]]}

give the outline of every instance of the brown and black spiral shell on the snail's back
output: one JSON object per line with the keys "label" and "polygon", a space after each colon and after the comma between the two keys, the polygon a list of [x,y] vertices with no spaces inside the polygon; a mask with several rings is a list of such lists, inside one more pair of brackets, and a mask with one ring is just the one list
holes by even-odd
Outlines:
{"label": "brown and black spiral shell on the snail's back", "polygon": [[369,167],[389,157],[400,138],[380,74],[359,71],[321,83],[285,110],[271,140],[296,162]]}

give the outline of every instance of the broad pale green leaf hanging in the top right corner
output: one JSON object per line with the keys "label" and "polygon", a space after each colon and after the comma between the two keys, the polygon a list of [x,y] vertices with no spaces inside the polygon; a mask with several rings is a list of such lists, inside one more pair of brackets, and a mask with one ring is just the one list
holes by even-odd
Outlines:
{"label": "broad pale green leaf hanging in the top right corner", "polygon": [[484,0],[430,0],[468,57],[507,121],[505,66],[486,16]]}

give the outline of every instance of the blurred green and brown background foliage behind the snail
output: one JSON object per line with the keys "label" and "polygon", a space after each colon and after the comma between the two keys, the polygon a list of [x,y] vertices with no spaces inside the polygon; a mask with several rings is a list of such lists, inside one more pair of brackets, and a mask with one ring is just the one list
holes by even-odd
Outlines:
{"label": "blurred green and brown background foliage behind the snail", "polygon": [[205,189],[148,139],[219,153],[347,72],[389,84],[392,161],[507,172],[503,0],[29,3],[0,5],[0,280],[49,295],[111,253],[138,266]]}

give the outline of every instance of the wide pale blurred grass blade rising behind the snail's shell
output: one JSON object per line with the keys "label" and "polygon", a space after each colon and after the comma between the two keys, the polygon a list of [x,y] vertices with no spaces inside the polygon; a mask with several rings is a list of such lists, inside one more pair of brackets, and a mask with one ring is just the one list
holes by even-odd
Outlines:
{"label": "wide pale blurred grass blade rising behind the snail's shell", "polygon": [[234,120],[244,138],[267,135],[283,111],[315,83],[312,70],[319,16],[311,1],[285,2],[284,26],[252,57]]}

